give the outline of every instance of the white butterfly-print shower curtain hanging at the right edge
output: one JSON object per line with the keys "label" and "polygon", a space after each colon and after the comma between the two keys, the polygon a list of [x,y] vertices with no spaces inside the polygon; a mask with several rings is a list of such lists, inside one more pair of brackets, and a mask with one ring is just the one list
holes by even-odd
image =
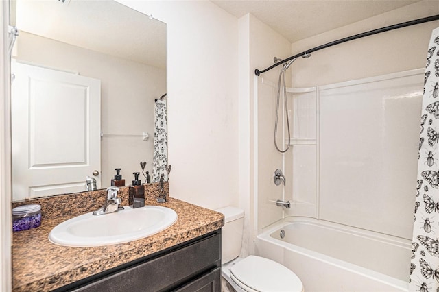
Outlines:
{"label": "white butterfly-print shower curtain hanging at the right edge", "polygon": [[439,291],[439,27],[427,53],[420,120],[410,291]]}

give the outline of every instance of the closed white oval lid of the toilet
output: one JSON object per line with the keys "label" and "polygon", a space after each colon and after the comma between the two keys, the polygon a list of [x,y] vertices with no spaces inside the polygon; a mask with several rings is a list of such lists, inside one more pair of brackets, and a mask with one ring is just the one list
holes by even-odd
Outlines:
{"label": "closed white oval lid of the toilet", "polygon": [[290,269],[260,256],[244,258],[230,268],[230,274],[237,280],[236,284],[247,291],[303,290],[302,282]]}

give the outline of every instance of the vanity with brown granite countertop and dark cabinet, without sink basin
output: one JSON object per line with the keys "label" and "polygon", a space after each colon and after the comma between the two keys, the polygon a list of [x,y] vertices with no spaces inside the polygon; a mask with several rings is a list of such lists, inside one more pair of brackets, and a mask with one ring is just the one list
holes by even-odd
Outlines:
{"label": "vanity with brown granite countertop and dark cabinet, without sink basin", "polygon": [[224,216],[174,198],[160,206],[178,215],[162,232],[117,245],[67,247],[48,234],[81,213],[52,216],[51,204],[42,204],[42,225],[13,234],[13,291],[220,291]]}

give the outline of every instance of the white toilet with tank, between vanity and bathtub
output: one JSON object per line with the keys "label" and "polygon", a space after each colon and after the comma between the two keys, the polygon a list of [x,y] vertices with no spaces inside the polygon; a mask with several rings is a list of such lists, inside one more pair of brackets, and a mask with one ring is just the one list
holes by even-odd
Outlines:
{"label": "white toilet with tank, between vanity and bathtub", "polygon": [[217,212],[224,214],[221,273],[226,282],[222,281],[222,291],[303,291],[298,276],[274,260],[261,256],[238,257],[244,229],[244,210],[228,206]]}

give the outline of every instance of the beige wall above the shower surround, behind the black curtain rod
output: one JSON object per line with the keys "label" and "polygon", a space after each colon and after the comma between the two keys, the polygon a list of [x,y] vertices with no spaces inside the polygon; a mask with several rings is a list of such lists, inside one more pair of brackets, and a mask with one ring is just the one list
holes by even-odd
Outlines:
{"label": "beige wall above the shower surround, behind the black curtain rod", "polygon": [[[292,44],[292,54],[388,25],[439,14],[438,1],[420,1]],[[332,84],[425,67],[431,30],[439,21],[414,25],[316,51],[298,60],[293,86]]]}

